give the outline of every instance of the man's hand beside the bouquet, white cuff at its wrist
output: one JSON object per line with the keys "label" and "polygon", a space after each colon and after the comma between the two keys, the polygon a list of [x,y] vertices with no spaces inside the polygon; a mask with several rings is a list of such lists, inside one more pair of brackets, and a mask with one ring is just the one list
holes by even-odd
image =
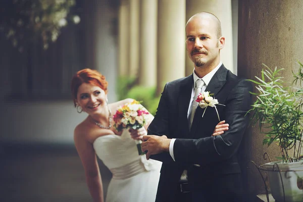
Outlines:
{"label": "man's hand beside the bouquet, white cuff at its wrist", "polygon": [[150,155],[157,155],[163,151],[169,152],[169,144],[171,139],[168,139],[166,135],[144,135],[141,143],[142,151],[146,151],[146,159],[148,160]]}

